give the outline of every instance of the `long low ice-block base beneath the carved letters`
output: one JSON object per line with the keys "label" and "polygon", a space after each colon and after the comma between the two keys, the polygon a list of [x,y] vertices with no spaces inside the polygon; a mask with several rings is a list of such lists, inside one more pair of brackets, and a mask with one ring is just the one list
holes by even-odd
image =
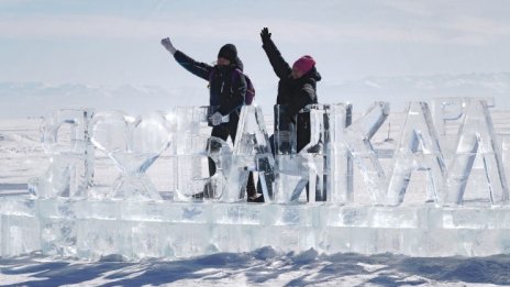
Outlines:
{"label": "long low ice-block base beneath the carved letters", "polygon": [[[0,198],[1,256],[140,261],[274,246],[285,252],[510,253],[510,208]],[[448,240],[444,240],[444,239]]]}

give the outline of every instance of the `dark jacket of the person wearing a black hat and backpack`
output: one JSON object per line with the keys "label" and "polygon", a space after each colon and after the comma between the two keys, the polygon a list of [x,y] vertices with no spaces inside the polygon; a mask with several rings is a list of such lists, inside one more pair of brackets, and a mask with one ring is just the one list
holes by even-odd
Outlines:
{"label": "dark jacket of the person wearing a black hat and backpack", "polygon": [[236,125],[246,95],[246,80],[239,75],[233,76],[233,73],[239,73],[236,68],[243,70],[243,63],[237,59],[235,65],[211,66],[196,62],[180,51],[174,54],[174,58],[191,74],[210,81],[209,104],[219,106],[218,111],[223,115],[230,114],[230,122]]}

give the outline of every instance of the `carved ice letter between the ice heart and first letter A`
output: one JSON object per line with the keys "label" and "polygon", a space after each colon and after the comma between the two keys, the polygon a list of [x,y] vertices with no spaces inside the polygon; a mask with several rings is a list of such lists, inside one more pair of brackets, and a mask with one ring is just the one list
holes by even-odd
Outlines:
{"label": "carved ice letter between the ice heart and first letter A", "polygon": [[[174,201],[218,200],[226,184],[231,145],[211,136],[209,118],[215,107],[177,107],[166,118],[171,130],[175,159]],[[229,117],[224,117],[223,122]],[[212,173],[212,174],[210,174]]]}

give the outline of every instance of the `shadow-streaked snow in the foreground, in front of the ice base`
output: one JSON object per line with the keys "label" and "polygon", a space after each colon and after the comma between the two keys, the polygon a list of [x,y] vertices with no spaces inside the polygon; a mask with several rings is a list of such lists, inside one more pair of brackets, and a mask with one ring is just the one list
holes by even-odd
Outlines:
{"label": "shadow-streaked snow in the foreground, in front of the ice base", "polygon": [[[114,258],[111,258],[114,260]],[[510,257],[321,255],[264,247],[175,262],[0,261],[0,286],[506,286]]]}

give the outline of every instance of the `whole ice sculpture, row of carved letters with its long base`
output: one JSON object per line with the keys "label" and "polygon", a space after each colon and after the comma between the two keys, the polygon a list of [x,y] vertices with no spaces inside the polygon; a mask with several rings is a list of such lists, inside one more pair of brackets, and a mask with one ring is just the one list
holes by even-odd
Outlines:
{"label": "whole ice sculpture, row of carved letters with its long base", "polygon": [[[424,256],[509,253],[510,223],[498,220],[510,217],[506,142],[495,132],[491,104],[468,98],[410,102],[389,150],[372,142],[390,115],[388,102],[357,117],[348,103],[302,109],[310,141],[300,151],[296,131],[302,123],[287,117],[285,106],[275,106],[271,136],[262,108],[243,107],[235,142],[210,135],[213,107],[141,117],[55,111],[42,125],[47,172],[30,180],[31,197],[0,200],[1,254],[40,250],[137,260],[265,245]],[[103,196],[95,183],[98,154],[119,175]],[[157,161],[170,163],[169,190],[158,190],[147,175]],[[248,173],[265,203],[245,202]],[[414,181],[424,200],[406,205]],[[357,200],[363,192],[367,200]],[[435,244],[445,236],[458,244]]]}

